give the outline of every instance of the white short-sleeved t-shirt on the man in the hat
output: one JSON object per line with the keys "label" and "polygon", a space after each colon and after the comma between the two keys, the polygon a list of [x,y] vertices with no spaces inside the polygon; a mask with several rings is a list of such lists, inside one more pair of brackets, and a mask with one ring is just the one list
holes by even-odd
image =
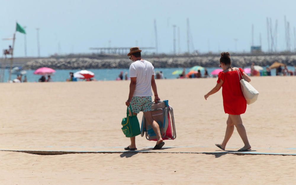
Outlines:
{"label": "white short-sleeved t-shirt on the man in the hat", "polygon": [[133,96],[152,96],[151,78],[155,75],[152,63],[147,60],[137,60],[130,66],[130,77],[137,77]]}

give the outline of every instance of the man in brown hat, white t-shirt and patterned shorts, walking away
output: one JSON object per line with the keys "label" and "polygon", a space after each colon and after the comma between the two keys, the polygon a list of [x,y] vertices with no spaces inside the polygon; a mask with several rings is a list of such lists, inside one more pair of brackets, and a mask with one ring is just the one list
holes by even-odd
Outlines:
{"label": "man in brown hat, white t-shirt and patterned shorts, walking away", "polygon": [[[128,56],[134,61],[129,69],[131,78],[130,91],[126,106],[131,104],[134,115],[137,115],[140,111],[144,113],[147,124],[152,126],[156,136],[157,142],[153,150],[159,150],[165,144],[160,135],[159,125],[154,121],[151,113],[152,104],[152,92],[154,92],[154,101],[160,101],[157,94],[156,83],[154,80],[155,72],[152,63],[141,58],[141,51],[139,48],[131,48]],[[137,150],[136,138],[131,137],[131,145],[124,148],[125,150]]]}

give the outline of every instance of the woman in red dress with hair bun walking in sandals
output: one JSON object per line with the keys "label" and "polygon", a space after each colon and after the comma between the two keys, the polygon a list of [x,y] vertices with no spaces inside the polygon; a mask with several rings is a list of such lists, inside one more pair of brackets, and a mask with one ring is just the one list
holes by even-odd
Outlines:
{"label": "woman in red dress with hair bun walking in sandals", "polygon": [[228,114],[228,119],[226,121],[227,127],[223,142],[215,145],[221,150],[225,150],[226,144],[229,141],[235,126],[239,136],[244,142],[244,147],[238,151],[251,150],[251,145],[248,141],[247,133],[240,117],[240,114],[243,114],[246,111],[247,102],[240,87],[239,79],[241,79],[241,75],[239,73],[242,74],[242,78],[246,81],[250,82],[251,79],[241,68],[237,71],[236,68],[231,67],[231,60],[228,52],[221,53],[219,66],[222,67],[223,71],[218,74],[217,84],[205,95],[205,99],[207,99],[210,95],[215,94],[221,87],[223,87],[223,107],[224,112]]}

